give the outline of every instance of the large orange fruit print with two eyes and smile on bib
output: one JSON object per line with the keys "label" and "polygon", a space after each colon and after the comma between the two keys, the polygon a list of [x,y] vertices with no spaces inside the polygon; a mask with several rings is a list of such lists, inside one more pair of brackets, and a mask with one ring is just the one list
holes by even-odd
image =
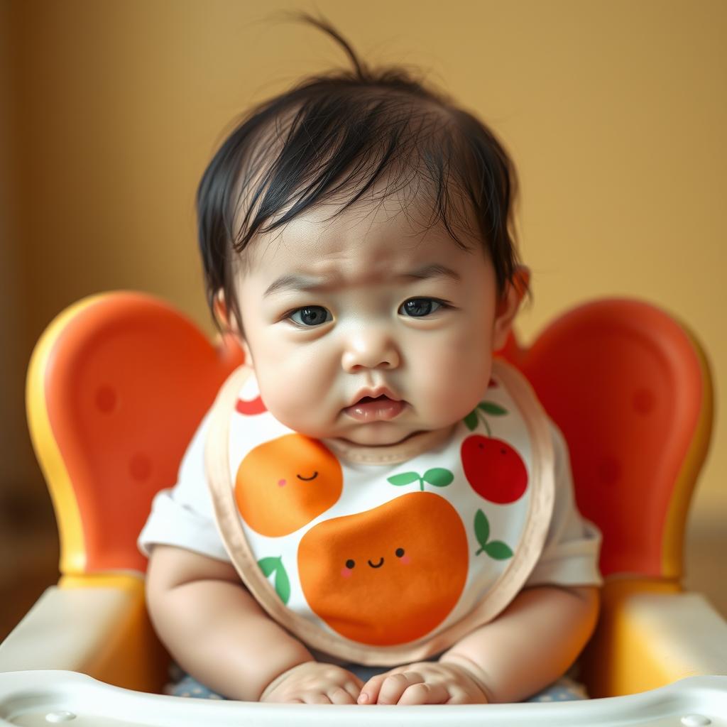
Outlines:
{"label": "large orange fruit print with two eyes and smile on bib", "polygon": [[393,646],[437,627],[467,579],[467,534],[446,499],[410,492],[319,523],[298,547],[300,585],[334,631]]}

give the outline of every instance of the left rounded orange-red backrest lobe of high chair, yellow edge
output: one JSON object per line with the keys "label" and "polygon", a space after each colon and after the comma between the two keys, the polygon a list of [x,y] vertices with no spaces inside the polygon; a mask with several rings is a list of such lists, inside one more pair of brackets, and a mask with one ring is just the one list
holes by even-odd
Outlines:
{"label": "left rounded orange-red backrest lobe of high chair, yellow edge", "polygon": [[174,308],[139,293],[81,300],[33,351],[28,420],[55,505],[62,574],[145,571],[136,548],[153,495],[239,349],[214,348]]}

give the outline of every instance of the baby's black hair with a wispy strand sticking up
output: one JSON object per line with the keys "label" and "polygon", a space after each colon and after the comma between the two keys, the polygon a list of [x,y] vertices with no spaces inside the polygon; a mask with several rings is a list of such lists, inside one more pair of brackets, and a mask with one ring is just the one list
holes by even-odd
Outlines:
{"label": "baby's black hair with a wispy strand sticking up", "polygon": [[[353,70],[312,76],[255,106],[207,166],[196,203],[210,308],[222,289],[241,326],[233,256],[257,233],[348,196],[337,216],[379,180],[387,182],[382,198],[415,183],[417,201],[425,198],[433,210],[430,226],[443,225],[460,246],[455,228],[480,238],[502,294],[518,265],[517,179],[494,134],[410,71],[370,69],[326,21],[291,15],[338,41]],[[477,230],[468,222],[472,212]]]}

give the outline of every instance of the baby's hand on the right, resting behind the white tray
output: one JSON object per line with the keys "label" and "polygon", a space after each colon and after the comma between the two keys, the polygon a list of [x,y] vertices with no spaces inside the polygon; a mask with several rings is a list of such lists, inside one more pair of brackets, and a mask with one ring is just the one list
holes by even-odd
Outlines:
{"label": "baby's hand on the right, resting behind the white tray", "polygon": [[358,704],[486,704],[483,686],[464,667],[417,662],[369,679]]}

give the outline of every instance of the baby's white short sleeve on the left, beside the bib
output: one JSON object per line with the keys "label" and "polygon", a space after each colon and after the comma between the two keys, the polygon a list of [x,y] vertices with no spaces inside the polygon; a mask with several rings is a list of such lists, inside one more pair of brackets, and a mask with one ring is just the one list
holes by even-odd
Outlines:
{"label": "baby's white short sleeve on the left, beside the bib", "polygon": [[177,484],[159,491],[137,547],[148,556],[154,545],[176,545],[218,561],[230,561],[217,531],[212,497],[204,470],[209,412],[202,419],[182,458]]}

